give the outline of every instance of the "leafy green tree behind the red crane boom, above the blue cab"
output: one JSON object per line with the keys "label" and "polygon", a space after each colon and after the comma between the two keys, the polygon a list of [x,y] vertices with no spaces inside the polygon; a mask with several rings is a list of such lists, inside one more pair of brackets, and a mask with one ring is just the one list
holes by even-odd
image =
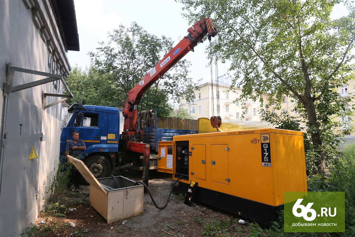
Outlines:
{"label": "leafy green tree behind the red crane boom, above the blue cab", "polygon": [[[173,41],[165,36],[149,34],[135,22],[130,27],[120,25],[109,33],[109,42],[100,43],[97,52],[90,52],[89,69],[74,68],[67,84],[75,95],[69,103],[118,107],[125,106],[129,92],[173,48]],[[194,96],[195,86],[187,77],[190,63],[179,61],[143,95],[140,110],[157,109],[160,117],[172,110],[169,99],[179,101]]]}

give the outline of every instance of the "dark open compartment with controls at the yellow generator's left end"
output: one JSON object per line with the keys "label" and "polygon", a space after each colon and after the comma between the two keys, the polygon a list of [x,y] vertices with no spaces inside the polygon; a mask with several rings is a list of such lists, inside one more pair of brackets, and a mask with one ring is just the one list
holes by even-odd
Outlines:
{"label": "dark open compartment with controls at the yellow generator's left end", "polygon": [[189,141],[177,141],[175,147],[175,178],[189,180]]}

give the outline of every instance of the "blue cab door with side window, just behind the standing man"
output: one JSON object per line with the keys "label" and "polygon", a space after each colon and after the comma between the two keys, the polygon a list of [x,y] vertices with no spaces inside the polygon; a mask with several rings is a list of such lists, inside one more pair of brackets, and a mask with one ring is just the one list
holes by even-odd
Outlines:
{"label": "blue cab door with side window, just behind the standing man", "polygon": [[[107,144],[107,113],[105,112],[76,112],[82,113],[81,121],[70,121],[67,141],[72,139],[72,132],[79,133],[79,138],[85,142],[86,148],[94,144]],[[74,117],[75,116],[75,117]],[[74,118],[77,114],[74,114]]]}

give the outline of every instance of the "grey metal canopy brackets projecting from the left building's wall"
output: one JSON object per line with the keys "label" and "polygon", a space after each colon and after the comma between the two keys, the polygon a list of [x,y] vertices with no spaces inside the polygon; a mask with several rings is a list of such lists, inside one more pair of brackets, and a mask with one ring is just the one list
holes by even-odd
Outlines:
{"label": "grey metal canopy brackets projecting from the left building's wall", "polygon": [[[12,87],[15,71],[34,74],[34,75],[40,75],[40,76],[47,76],[47,78],[41,79],[41,80],[38,80],[38,81],[28,82],[28,83],[25,83],[25,84],[22,84],[22,85],[18,85],[18,86]],[[5,82],[4,93],[5,92],[6,93],[13,93],[13,92],[21,91],[21,90],[24,90],[24,89],[27,89],[27,88],[31,88],[31,87],[34,87],[34,86],[47,84],[48,82],[61,80],[61,82],[63,83],[63,85],[65,86],[66,90],[69,92],[70,95],[52,94],[52,93],[42,92],[42,108],[43,109],[47,109],[47,108],[49,108],[51,106],[54,106],[55,104],[58,104],[60,102],[65,101],[68,98],[72,98],[73,97],[73,93],[70,91],[68,85],[66,84],[63,75],[51,74],[51,73],[48,73],[48,72],[41,72],[41,71],[34,71],[34,70],[29,70],[29,69],[24,69],[24,68],[17,68],[17,67],[11,66],[10,64],[7,64],[7,72],[6,72],[6,74],[7,74],[7,82]],[[47,105],[47,96],[64,97],[64,98],[61,98],[59,101],[56,101],[54,103],[51,103],[51,104]]]}

